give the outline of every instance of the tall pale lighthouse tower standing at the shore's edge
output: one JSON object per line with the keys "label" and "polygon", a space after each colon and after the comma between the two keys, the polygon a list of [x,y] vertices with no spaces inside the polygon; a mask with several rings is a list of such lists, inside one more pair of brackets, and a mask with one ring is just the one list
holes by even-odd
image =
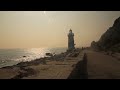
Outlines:
{"label": "tall pale lighthouse tower standing at the shore's edge", "polygon": [[72,30],[69,30],[68,33],[68,50],[72,51],[75,49],[75,44],[74,44],[74,33],[72,32]]}

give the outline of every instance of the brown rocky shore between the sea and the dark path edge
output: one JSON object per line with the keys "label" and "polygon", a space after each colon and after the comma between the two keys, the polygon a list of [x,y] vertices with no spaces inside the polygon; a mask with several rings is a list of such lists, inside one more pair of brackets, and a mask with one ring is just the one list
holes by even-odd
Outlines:
{"label": "brown rocky shore between the sea and the dark path edge", "polygon": [[[80,49],[76,49],[72,52],[66,51],[57,55],[47,53],[49,57],[44,57],[29,62],[20,62],[13,66],[3,67],[0,68],[0,79],[68,78],[79,61],[78,56],[80,53]],[[65,70],[69,72],[66,72]],[[65,71],[66,74],[64,74],[63,71]]]}

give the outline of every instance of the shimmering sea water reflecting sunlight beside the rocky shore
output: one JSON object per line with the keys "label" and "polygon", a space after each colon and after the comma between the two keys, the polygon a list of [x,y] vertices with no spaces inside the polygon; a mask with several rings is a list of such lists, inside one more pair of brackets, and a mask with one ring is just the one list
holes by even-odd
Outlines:
{"label": "shimmering sea water reflecting sunlight beside the rocky shore", "polygon": [[46,57],[46,53],[59,54],[66,50],[67,48],[0,49],[0,68]]}

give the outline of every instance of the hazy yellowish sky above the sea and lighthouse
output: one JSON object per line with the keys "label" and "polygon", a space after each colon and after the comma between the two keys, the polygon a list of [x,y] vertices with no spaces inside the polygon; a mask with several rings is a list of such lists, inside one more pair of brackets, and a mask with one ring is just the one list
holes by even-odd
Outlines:
{"label": "hazy yellowish sky above the sea and lighthouse", "polygon": [[0,11],[0,48],[89,46],[113,25],[120,11]]}

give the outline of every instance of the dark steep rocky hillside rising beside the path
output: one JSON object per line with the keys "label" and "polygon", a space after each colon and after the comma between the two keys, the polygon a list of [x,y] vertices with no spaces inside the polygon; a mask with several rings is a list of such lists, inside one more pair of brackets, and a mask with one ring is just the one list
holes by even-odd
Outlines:
{"label": "dark steep rocky hillside rising beside the path", "polygon": [[[92,42],[91,47],[99,50],[113,50],[118,51],[120,45],[120,17],[115,20],[112,27],[110,27],[97,42]],[[116,46],[118,45],[118,47]],[[116,49],[116,50],[115,50]]]}

